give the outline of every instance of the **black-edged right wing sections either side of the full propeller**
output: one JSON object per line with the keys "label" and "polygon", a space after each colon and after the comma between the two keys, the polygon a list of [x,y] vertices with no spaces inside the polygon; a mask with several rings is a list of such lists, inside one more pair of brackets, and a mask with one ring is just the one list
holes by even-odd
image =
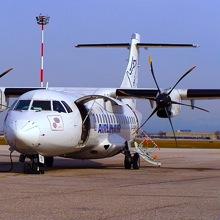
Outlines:
{"label": "black-edged right wing sections either side of the full propeller", "polygon": [[[176,89],[182,100],[220,99],[220,89]],[[116,97],[150,99],[157,96],[157,89],[116,89]]]}

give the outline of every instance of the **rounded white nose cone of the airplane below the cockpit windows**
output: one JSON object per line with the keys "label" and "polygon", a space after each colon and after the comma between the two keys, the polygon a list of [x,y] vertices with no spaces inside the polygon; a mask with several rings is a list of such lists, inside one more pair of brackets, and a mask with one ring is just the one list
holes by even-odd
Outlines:
{"label": "rounded white nose cone of the airplane below the cockpit windows", "polygon": [[9,145],[21,150],[38,146],[40,130],[34,121],[16,120],[8,124],[5,136]]}

